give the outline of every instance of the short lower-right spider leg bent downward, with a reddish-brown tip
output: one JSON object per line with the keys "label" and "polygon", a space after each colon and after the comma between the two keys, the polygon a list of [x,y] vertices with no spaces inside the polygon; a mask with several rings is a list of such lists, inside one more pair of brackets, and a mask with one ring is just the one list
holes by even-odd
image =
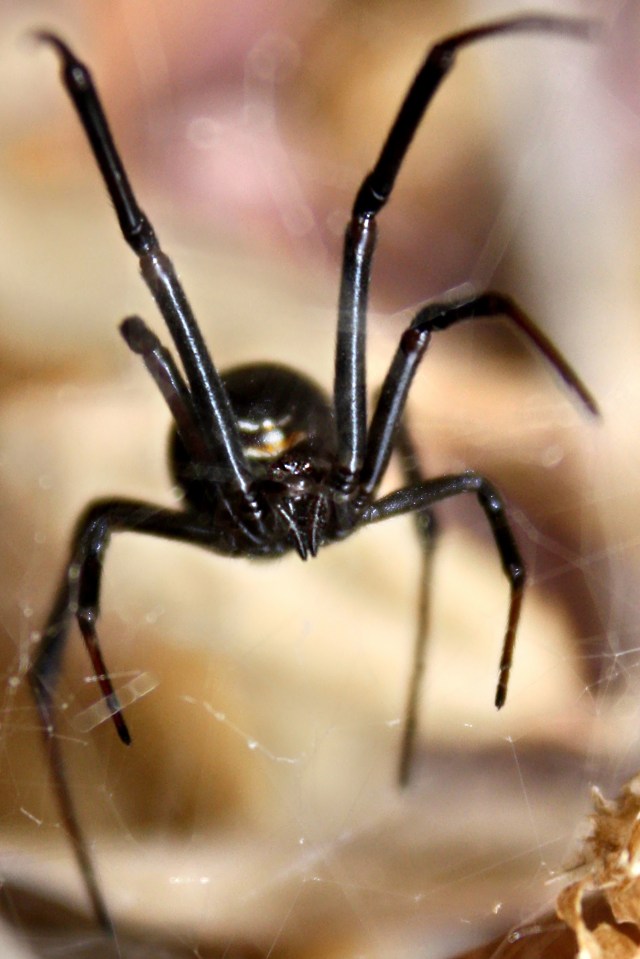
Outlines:
{"label": "short lower-right spider leg bent downward, with a reddish-brown tip", "polygon": [[[502,654],[500,656],[495,697],[496,707],[500,709],[504,706],[507,696],[507,686],[509,683],[513,648],[522,606],[526,570],[511,527],[509,526],[504,504],[496,488],[489,480],[473,472],[425,480],[415,485],[404,487],[395,493],[390,493],[388,496],[377,500],[365,509],[363,522],[366,524],[378,523],[381,520],[389,519],[392,516],[399,516],[404,513],[419,513],[422,510],[428,509],[434,503],[448,499],[451,496],[459,496],[462,493],[474,493],[476,495],[478,503],[487,517],[500,556],[503,572],[509,581],[511,593],[509,613],[502,645]],[[407,725],[408,722],[407,720]],[[409,733],[410,739],[411,735],[412,734]],[[410,747],[411,741],[408,744],[408,748]],[[407,763],[409,758],[410,757],[406,760]],[[401,771],[402,768],[403,767],[401,767]]]}

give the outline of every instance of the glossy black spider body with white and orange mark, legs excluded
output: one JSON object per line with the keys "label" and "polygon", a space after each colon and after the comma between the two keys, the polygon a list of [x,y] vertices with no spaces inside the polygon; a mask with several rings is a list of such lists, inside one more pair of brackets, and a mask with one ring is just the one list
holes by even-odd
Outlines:
{"label": "glossy black spider body with white and orange mark, legs excluded", "polygon": [[224,373],[222,382],[251,471],[259,520],[250,511],[246,525],[230,525],[232,515],[243,513],[233,480],[226,482],[215,463],[190,454],[174,428],[171,467],[190,506],[208,515],[221,510],[210,545],[243,556],[280,556],[290,549],[303,559],[315,556],[331,538],[334,516],[329,477],[336,443],[329,398],[306,376],[275,363],[237,367]]}

